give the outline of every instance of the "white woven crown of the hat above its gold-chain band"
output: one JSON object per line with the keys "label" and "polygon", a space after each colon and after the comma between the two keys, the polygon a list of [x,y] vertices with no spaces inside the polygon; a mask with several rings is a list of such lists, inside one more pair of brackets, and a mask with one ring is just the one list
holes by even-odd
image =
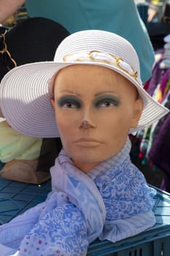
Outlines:
{"label": "white woven crown of the hat above its gold-chain band", "polygon": [[55,52],[54,61],[62,62],[72,53],[86,53],[98,50],[111,53],[129,64],[140,77],[139,59],[133,46],[123,37],[109,31],[86,30],[76,32],[63,39]]}

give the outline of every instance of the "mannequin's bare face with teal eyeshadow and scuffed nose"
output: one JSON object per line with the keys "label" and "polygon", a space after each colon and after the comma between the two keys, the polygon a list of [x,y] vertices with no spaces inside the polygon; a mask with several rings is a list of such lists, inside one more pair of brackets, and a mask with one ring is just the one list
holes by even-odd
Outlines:
{"label": "mannequin's bare face with teal eyeshadow and scuffed nose", "polygon": [[142,113],[131,82],[93,65],[61,69],[51,102],[63,148],[85,173],[123,148]]}

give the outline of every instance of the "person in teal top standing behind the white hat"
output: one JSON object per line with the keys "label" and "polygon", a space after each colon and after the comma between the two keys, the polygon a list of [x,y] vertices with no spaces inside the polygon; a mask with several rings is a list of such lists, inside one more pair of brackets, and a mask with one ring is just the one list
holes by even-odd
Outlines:
{"label": "person in teal top standing behind the white hat", "polygon": [[101,29],[125,37],[139,55],[142,82],[152,75],[154,50],[134,0],[50,0],[50,4],[48,0],[0,0],[0,10],[3,12],[0,23],[24,3],[29,17],[55,20],[70,34],[85,29]]}

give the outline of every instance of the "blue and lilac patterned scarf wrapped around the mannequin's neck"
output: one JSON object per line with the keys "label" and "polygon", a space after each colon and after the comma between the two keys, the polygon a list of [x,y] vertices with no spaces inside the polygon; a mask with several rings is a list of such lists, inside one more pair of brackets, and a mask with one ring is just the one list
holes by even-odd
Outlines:
{"label": "blue and lilac patterned scarf wrapped around the mannequin's neck", "polygon": [[131,143],[88,175],[61,151],[44,203],[0,226],[3,256],[78,256],[96,238],[112,242],[152,227],[155,189],[131,163]]}

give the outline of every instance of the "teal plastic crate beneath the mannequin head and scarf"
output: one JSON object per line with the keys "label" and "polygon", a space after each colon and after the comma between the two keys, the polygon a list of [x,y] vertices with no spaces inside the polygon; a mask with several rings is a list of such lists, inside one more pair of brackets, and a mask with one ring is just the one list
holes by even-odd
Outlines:
{"label": "teal plastic crate beneath the mannequin head and scarf", "polygon": [[[50,181],[34,185],[0,178],[0,224],[44,201],[50,189]],[[88,256],[170,256],[170,194],[155,189],[156,225],[115,244],[96,240]]]}

